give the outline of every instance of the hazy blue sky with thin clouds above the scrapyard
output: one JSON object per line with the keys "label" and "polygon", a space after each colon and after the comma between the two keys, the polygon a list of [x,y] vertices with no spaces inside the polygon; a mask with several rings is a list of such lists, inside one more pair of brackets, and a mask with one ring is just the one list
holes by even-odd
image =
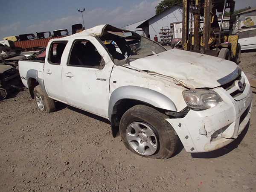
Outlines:
{"label": "hazy blue sky with thin clouds above the scrapyard", "polygon": [[[0,0],[0,40],[11,35],[68,29],[82,23],[88,29],[99,24],[123,27],[155,14],[161,0]],[[256,7],[256,0],[236,0],[236,9]]]}

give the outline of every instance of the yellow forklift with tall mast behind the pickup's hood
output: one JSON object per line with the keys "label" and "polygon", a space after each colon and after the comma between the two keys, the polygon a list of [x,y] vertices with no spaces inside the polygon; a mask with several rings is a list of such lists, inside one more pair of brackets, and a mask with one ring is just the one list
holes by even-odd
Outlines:
{"label": "yellow forklift with tall mast behind the pickup's hood", "polygon": [[[230,10],[229,29],[223,29],[224,13],[227,9]],[[235,17],[232,16],[234,9],[234,0],[183,0],[183,49],[239,64],[241,55],[239,36],[232,35],[235,22]],[[216,12],[222,13],[220,25]]]}

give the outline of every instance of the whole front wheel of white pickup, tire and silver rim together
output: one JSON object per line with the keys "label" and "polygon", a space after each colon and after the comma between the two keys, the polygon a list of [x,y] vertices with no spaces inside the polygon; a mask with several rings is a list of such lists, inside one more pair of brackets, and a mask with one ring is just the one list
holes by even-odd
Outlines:
{"label": "whole front wheel of white pickup, tire and silver rim together", "polygon": [[143,157],[172,157],[177,150],[178,137],[166,118],[169,117],[145,105],[130,108],[122,116],[119,126],[126,148]]}

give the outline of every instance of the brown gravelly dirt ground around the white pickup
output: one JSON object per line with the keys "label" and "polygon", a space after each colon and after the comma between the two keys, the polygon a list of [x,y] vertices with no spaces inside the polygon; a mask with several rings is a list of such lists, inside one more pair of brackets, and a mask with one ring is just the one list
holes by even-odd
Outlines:
{"label": "brown gravelly dirt ground around the white pickup", "polygon": [[[242,53],[240,66],[256,75],[256,52]],[[128,151],[100,117],[66,105],[41,113],[24,89],[0,102],[0,192],[255,192],[253,101],[250,125],[230,145],[155,160]]]}

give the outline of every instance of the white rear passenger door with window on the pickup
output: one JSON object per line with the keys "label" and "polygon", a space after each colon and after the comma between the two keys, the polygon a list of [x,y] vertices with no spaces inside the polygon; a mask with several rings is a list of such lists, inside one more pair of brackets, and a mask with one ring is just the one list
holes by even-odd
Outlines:
{"label": "white rear passenger door with window on the pickup", "polygon": [[67,41],[53,41],[45,58],[44,65],[44,84],[47,94],[56,100],[66,102],[62,88],[62,62],[61,59]]}

